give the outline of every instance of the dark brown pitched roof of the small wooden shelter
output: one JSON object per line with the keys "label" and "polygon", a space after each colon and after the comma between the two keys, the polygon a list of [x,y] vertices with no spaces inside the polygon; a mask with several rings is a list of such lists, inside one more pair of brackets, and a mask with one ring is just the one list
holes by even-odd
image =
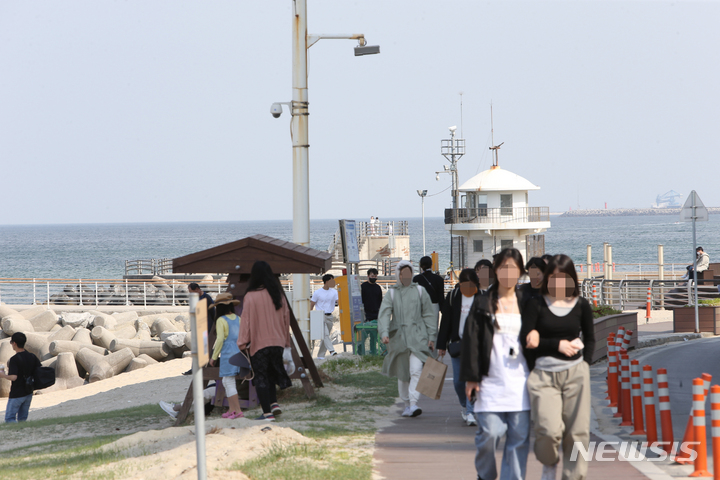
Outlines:
{"label": "dark brown pitched roof of the small wooden shelter", "polygon": [[[253,235],[173,259],[175,273],[249,274],[264,260],[276,274],[320,274],[332,266],[332,254],[267,235]],[[236,268],[239,266],[240,268]]]}

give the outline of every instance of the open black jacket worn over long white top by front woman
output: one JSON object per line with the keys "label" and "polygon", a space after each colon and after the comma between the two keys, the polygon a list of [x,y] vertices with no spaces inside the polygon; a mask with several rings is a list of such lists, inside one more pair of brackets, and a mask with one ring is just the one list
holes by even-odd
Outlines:
{"label": "open black jacket worn over long white top by front woman", "polygon": [[[522,298],[517,295],[518,309],[523,313]],[[493,315],[490,313],[490,294],[478,293],[465,321],[460,354],[460,380],[480,382],[490,369],[490,356],[493,348]],[[524,322],[524,320],[523,320]],[[526,329],[520,329],[520,345],[527,362],[528,370],[535,366],[534,356],[525,348]]]}

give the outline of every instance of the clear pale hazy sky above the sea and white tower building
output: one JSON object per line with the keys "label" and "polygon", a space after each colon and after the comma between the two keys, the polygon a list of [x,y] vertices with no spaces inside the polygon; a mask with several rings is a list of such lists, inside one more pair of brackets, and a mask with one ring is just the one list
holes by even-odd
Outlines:
{"label": "clear pale hazy sky above the sea and white tower building", "polygon": [[[0,3],[0,225],[292,218],[291,0]],[[720,3],[308,0],[310,216],[451,206],[492,161],[531,206],[720,206]],[[460,95],[462,92],[462,96]],[[461,115],[462,98],[462,115]]]}

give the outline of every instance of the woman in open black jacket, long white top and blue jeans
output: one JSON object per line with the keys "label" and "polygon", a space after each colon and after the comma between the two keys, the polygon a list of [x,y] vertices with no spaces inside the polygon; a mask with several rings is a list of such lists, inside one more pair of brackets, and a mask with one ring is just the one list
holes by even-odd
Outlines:
{"label": "woman in open black jacket, long white top and blue jeans", "polygon": [[522,309],[516,294],[525,273],[515,248],[495,256],[497,281],[476,296],[462,338],[461,380],[469,399],[475,395],[475,469],[478,479],[497,478],[495,448],[505,436],[501,480],[525,478],[530,450],[529,367],[522,348]]}

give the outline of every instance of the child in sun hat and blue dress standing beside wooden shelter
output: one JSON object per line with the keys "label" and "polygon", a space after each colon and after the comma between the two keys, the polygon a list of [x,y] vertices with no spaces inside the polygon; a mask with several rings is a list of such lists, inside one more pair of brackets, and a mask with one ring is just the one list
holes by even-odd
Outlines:
{"label": "child in sun hat and blue dress standing beside wooden shelter", "polygon": [[235,315],[235,305],[239,305],[240,300],[235,300],[232,293],[221,293],[215,298],[215,314],[217,321],[215,322],[215,331],[217,339],[213,347],[213,353],[210,358],[210,366],[215,366],[218,357],[220,358],[220,378],[222,378],[223,388],[225,388],[225,396],[228,399],[230,408],[222,414],[223,418],[240,418],[245,415],[240,409],[240,400],[237,394],[237,375],[240,373],[240,367],[232,365],[230,358],[240,353],[237,340],[240,333],[240,318]]}

